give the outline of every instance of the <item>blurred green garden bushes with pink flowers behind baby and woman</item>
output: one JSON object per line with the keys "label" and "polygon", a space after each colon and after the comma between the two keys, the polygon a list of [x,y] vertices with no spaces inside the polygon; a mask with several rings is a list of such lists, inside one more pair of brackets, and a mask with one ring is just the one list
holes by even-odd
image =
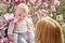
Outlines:
{"label": "blurred green garden bushes with pink flowers behind baby and woman", "polygon": [[0,23],[3,23],[4,27],[8,26],[8,23],[1,16],[14,13],[17,4],[22,2],[28,5],[28,16],[32,18],[35,25],[44,16],[50,16],[58,22],[65,39],[65,0],[0,0]]}

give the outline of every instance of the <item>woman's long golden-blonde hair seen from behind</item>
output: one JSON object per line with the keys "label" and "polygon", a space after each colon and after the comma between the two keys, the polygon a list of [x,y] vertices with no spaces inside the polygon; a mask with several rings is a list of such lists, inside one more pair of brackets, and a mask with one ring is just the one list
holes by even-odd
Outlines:
{"label": "woman's long golden-blonde hair seen from behind", "polygon": [[36,25],[35,43],[63,43],[61,26],[52,18],[41,18]]}

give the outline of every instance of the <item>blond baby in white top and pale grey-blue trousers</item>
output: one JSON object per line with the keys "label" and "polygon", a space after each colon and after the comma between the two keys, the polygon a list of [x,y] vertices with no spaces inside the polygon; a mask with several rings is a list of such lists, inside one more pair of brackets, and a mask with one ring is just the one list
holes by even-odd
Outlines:
{"label": "blond baby in white top and pale grey-blue trousers", "polygon": [[14,13],[17,22],[10,23],[8,29],[8,37],[9,39],[13,40],[13,43],[34,42],[34,25],[30,18],[27,17],[27,14],[28,6],[25,3],[18,4]]}

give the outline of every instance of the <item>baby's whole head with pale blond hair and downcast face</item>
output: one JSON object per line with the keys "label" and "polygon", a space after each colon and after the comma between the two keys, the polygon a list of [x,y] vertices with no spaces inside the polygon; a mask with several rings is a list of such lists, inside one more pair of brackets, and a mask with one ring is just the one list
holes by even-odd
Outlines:
{"label": "baby's whole head with pale blond hair and downcast face", "polygon": [[18,20],[23,20],[28,14],[28,6],[25,3],[18,4],[14,14]]}

